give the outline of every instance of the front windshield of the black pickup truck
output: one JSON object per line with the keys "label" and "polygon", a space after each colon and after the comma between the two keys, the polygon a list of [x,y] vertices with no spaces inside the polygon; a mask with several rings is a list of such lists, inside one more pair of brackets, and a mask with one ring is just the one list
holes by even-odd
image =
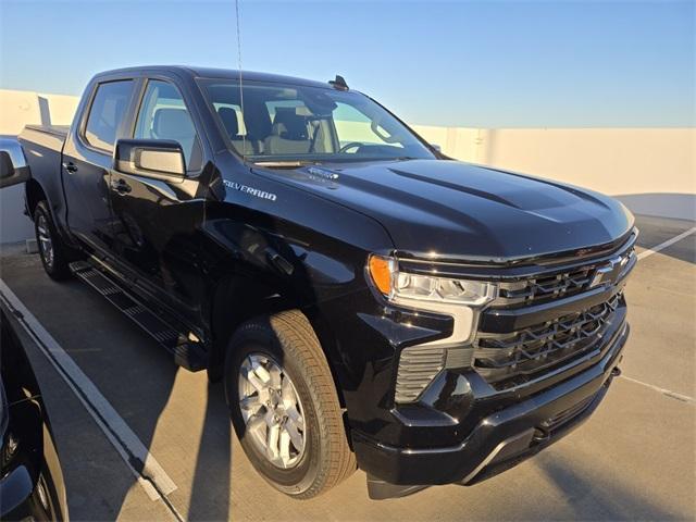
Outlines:
{"label": "front windshield of the black pickup truck", "polygon": [[252,162],[435,158],[403,124],[359,92],[279,83],[243,85],[240,92],[235,80],[202,80],[232,147]]}

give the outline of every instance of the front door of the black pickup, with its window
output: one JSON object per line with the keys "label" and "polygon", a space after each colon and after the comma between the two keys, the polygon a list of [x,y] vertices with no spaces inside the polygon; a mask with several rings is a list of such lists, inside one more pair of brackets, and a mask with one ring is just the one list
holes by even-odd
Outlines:
{"label": "front door of the black pickup, with its window", "polygon": [[206,192],[202,135],[181,90],[167,79],[146,82],[134,123],[133,138],[178,141],[187,175],[182,181],[112,173],[117,257],[144,289],[196,325],[203,288],[198,268]]}

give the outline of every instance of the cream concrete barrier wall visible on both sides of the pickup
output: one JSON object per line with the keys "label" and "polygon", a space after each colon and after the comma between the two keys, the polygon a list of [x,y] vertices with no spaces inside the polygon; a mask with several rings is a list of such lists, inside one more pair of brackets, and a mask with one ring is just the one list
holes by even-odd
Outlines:
{"label": "cream concrete barrier wall visible on both sides of the pickup", "polygon": [[[70,124],[78,97],[0,89],[0,134]],[[459,160],[618,197],[633,212],[696,220],[696,128],[468,128],[413,125]],[[0,243],[33,235],[23,190],[0,191]]]}

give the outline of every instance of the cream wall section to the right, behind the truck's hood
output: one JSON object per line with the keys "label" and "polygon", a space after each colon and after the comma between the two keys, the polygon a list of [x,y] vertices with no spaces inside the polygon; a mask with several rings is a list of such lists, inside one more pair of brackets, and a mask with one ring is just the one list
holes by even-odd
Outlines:
{"label": "cream wall section to the right, behind the truck's hood", "polygon": [[453,158],[592,188],[638,214],[696,220],[696,128],[414,128]]}

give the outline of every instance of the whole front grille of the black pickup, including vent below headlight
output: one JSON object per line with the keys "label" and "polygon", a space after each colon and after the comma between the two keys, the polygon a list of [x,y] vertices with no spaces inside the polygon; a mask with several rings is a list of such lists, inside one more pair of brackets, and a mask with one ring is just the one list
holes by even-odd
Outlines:
{"label": "whole front grille of the black pickup, including vent below headlight", "polygon": [[[604,349],[611,328],[623,321],[619,315],[625,315],[623,295],[617,287],[623,285],[635,265],[635,237],[632,234],[613,252],[605,251],[588,260],[574,258],[564,266],[539,261],[523,265],[522,270],[492,269],[488,281],[496,282],[498,295],[477,312],[480,321],[473,341],[405,348],[398,362],[396,402],[417,401],[446,369],[473,369],[493,388],[506,390],[543,380],[558,369],[570,369],[574,360]],[[486,278],[481,272],[472,277]],[[574,308],[591,295],[611,297],[584,310]],[[544,318],[538,321],[545,322],[506,331],[512,327],[506,325],[515,324],[518,318],[537,313]],[[549,318],[552,320],[547,321]]]}

